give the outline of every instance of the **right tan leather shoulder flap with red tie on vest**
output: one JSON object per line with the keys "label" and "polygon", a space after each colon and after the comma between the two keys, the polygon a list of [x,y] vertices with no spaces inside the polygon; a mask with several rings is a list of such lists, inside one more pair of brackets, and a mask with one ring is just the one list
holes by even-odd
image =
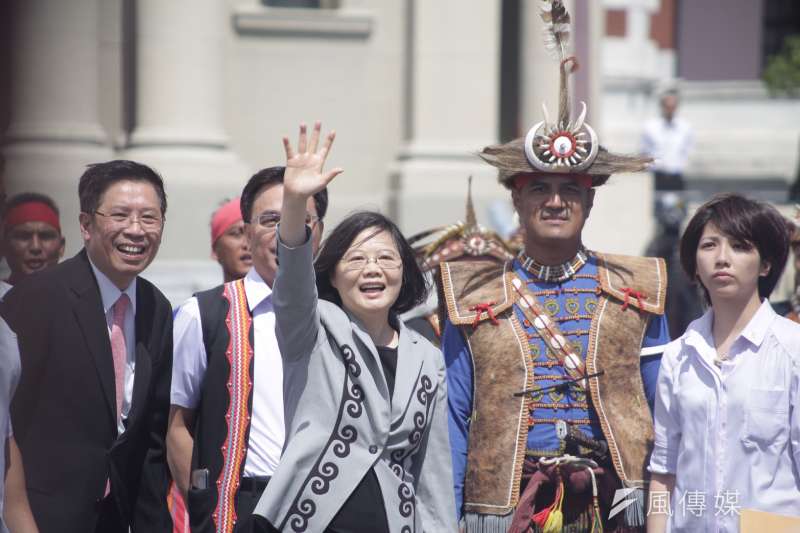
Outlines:
{"label": "right tan leather shoulder flap with red tie on vest", "polygon": [[648,313],[663,315],[667,266],[660,257],[592,252],[600,287],[609,296]]}

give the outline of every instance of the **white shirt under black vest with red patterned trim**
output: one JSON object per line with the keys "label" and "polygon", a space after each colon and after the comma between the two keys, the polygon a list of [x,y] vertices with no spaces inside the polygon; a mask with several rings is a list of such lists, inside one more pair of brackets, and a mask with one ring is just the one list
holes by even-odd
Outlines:
{"label": "white shirt under black vest with red patterned trim", "polygon": [[[244,278],[253,315],[253,408],[244,477],[271,476],[278,466],[286,434],[283,421],[283,362],[275,337],[272,289],[255,268]],[[190,298],[178,309],[173,329],[170,402],[187,409],[200,403],[208,366],[200,307]]]}

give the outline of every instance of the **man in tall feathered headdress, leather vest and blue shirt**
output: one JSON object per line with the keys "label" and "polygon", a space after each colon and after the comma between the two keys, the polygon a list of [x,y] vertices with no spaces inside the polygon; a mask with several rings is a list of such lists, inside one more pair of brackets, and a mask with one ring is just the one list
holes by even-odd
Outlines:
{"label": "man in tall feathered headdress, leather vest and blue shirt", "polygon": [[[589,251],[581,235],[595,188],[649,159],[601,147],[585,104],[570,120],[569,15],[560,1],[544,5],[561,55],[557,120],[545,109],[525,138],[481,153],[511,191],[525,248],[504,264],[441,265],[455,492],[467,532],[644,525],[648,404],[669,341],[665,266]],[[618,489],[629,490],[612,509]]]}

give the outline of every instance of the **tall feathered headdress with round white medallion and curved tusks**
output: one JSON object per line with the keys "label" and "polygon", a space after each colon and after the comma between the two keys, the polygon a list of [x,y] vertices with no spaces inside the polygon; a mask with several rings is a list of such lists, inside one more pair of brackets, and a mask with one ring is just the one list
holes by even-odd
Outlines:
{"label": "tall feathered headdress with round white medallion and curved tusks", "polygon": [[602,185],[611,174],[638,172],[652,161],[648,157],[612,154],[602,146],[597,134],[586,123],[586,103],[575,120],[570,116],[569,75],[578,69],[575,56],[567,55],[570,16],[562,0],[542,0],[541,16],[545,25],[545,48],[559,60],[558,117],[550,120],[542,104],[543,120],[524,138],[487,146],[479,154],[497,167],[500,182],[511,186],[511,179],[521,173],[571,173],[589,175],[592,186]]}

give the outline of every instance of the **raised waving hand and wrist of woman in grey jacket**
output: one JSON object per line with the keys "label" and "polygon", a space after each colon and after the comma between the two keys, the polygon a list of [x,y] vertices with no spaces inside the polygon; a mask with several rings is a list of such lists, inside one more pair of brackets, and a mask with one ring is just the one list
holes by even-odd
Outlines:
{"label": "raised waving hand and wrist of woman in grey jacket", "polygon": [[342,173],[341,168],[328,172],[323,170],[336,133],[331,131],[319,146],[322,124],[316,122],[311,138],[306,133],[306,125],[300,125],[297,151],[287,137],[283,138],[286,150],[286,173],[283,177],[283,207],[281,208],[281,241],[288,246],[299,246],[306,240],[305,219],[306,201]]}

